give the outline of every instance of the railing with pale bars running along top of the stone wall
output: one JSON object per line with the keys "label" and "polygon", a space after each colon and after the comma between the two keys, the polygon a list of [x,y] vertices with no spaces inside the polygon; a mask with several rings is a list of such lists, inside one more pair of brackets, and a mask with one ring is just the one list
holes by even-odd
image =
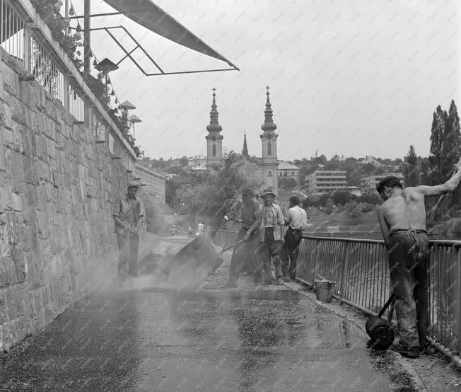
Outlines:
{"label": "railing with pale bars running along top of the stone wall", "polygon": [[[76,120],[93,132],[97,141],[112,137],[110,152],[126,153],[136,159],[133,149],[122,132],[86,85],[64,50],[52,38],[40,16],[33,16],[28,0],[0,0],[0,47],[30,75],[23,81],[36,81],[54,100],[57,100]],[[98,121],[93,120],[93,115]],[[95,126],[95,129],[93,129]]]}

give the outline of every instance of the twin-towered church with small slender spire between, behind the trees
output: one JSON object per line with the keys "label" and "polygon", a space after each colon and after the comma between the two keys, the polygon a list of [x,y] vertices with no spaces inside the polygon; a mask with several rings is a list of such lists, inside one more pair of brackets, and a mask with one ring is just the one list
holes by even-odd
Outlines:
{"label": "twin-towered church with small slender spire between, behind the trees", "polygon": [[[277,195],[279,190],[278,183],[278,166],[277,161],[277,138],[275,130],[277,128],[273,120],[272,105],[269,98],[269,86],[267,89],[266,98],[266,110],[264,110],[264,123],[261,125],[262,134],[261,138],[261,158],[250,158],[247,148],[247,134],[243,138],[243,151],[242,156],[245,158],[245,162],[255,165],[257,168],[257,176],[262,182],[263,188],[272,188],[274,193]],[[213,101],[211,103],[210,112],[210,125],[206,127],[208,134],[206,135],[206,163],[207,165],[213,165],[220,163],[223,160],[223,135],[221,131],[223,128],[219,125],[218,121],[218,109],[216,105],[216,88],[213,88]]]}

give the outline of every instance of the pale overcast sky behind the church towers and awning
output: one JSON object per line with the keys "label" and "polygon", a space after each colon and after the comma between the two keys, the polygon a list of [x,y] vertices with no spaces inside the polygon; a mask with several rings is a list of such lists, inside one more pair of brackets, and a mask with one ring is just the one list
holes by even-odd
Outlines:
{"label": "pale overcast sky behind the church towers and awning", "polygon": [[[279,158],[325,154],[402,158],[410,144],[427,155],[432,113],[460,99],[460,2],[385,0],[155,1],[240,67],[240,71],[146,77],[129,60],[110,74],[119,100],[136,105],[136,139],[152,158],[203,154],[211,88],[223,144],[260,156],[265,87],[271,86]],[[92,1],[93,12],[113,11]],[[83,13],[83,1],[74,1]],[[125,25],[166,71],[227,64]],[[133,44],[118,34],[131,49]],[[94,33],[98,59],[122,52]],[[147,71],[154,68],[135,52]]]}

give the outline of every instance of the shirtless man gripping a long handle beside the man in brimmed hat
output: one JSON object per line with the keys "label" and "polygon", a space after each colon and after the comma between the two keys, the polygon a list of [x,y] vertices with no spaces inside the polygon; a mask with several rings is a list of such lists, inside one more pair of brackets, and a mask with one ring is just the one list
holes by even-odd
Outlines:
{"label": "shirtless man gripping a long handle beside the man in brimmed hat", "polygon": [[255,265],[255,252],[259,244],[259,233],[257,231],[261,222],[261,206],[255,200],[250,189],[242,190],[242,204],[236,221],[242,224],[236,242],[240,240],[245,240],[245,242],[240,246],[236,246],[233,250],[232,258],[230,259],[229,279],[224,286],[226,288],[237,287],[238,278],[245,267],[255,272],[255,275],[253,275],[255,284],[258,285],[262,281],[262,277],[258,274],[260,268]]}

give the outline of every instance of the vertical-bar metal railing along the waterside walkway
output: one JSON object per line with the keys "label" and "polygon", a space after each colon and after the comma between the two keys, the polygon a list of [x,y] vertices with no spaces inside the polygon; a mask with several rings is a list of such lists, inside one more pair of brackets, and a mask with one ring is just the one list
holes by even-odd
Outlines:
{"label": "vertical-bar metal railing along the waterside walkway", "polygon": [[[235,241],[234,231],[218,231],[214,241]],[[429,241],[428,340],[461,349],[461,241]],[[383,240],[303,236],[296,277],[313,287],[317,274],[336,282],[334,297],[375,316],[390,295],[389,263]],[[459,359],[455,359],[458,363]],[[460,362],[461,364],[461,362]]]}

